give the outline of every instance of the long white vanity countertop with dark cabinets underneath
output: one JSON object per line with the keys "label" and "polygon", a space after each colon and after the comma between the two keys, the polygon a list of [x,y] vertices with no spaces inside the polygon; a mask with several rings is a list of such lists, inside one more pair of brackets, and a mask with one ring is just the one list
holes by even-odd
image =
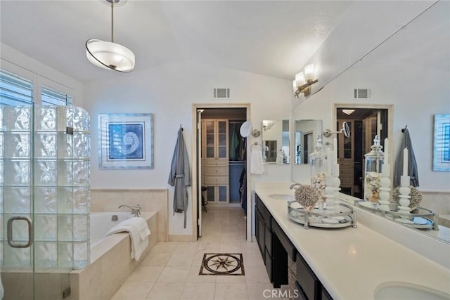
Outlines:
{"label": "long white vanity countertop with dark cabinets underneath", "polygon": [[[385,282],[406,282],[450,294],[450,270],[358,223],[358,228],[314,228],[288,218],[286,188],[256,188],[274,219],[333,299],[370,300]],[[450,247],[449,247],[450,258]]]}

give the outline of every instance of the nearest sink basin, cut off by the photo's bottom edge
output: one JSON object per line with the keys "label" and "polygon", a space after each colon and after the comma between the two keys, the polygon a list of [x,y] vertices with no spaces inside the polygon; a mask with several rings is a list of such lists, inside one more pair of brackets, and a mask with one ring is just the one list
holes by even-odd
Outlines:
{"label": "nearest sink basin, cut off by the photo's bottom edge", "polygon": [[387,282],[375,289],[375,300],[449,300],[450,294],[420,285],[404,282]]}

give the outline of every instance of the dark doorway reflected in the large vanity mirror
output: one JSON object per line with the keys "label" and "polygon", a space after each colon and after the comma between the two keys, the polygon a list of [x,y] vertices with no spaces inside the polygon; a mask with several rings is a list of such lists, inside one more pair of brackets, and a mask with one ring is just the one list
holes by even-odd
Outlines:
{"label": "dark doorway reflected in the large vanity mirror", "polygon": [[[373,139],[378,136],[381,145],[392,136],[392,105],[335,105],[336,130],[347,122],[349,138],[338,134],[338,163],[340,167],[341,193],[363,198],[364,155],[371,150]],[[391,148],[390,148],[391,149]],[[392,156],[391,156],[392,157]]]}

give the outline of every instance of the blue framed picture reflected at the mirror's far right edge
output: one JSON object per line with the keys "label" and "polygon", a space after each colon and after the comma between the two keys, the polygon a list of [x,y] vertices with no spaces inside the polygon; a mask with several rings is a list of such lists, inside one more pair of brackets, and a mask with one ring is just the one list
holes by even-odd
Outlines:
{"label": "blue framed picture reflected at the mirror's far right edge", "polygon": [[450,171],[450,114],[435,115],[433,171]]}

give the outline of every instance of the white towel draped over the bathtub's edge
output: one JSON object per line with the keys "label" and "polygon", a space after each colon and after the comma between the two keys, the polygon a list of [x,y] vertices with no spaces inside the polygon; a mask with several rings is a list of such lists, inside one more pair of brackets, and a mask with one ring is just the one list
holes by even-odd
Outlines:
{"label": "white towel draped over the bathtub's edge", "polygon": [[148,246],[148,235],[150,235],[146,219],[139,216],[124,220],[111,228],[106,236],[123,232],[129,233],[131,239],[131,259],[139,261],[141,254]]}

